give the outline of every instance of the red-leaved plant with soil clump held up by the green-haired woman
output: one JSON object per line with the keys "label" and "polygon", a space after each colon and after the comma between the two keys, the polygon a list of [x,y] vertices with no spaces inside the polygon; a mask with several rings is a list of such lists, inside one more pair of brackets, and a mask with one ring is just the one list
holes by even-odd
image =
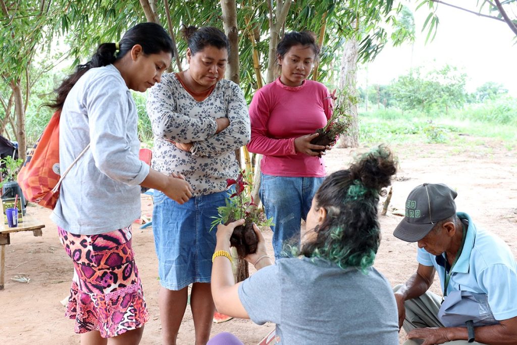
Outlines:
{"label": "red-leaved plant with soil clump held up by the green-haired woman", "polygon": [[234,186],[235,191],[226,200],[225,206],[218,207],[218,216],[211,223],[211,229],[218,224],[228,224],[238,219],[245,219],[245,223],[234,229],[230,238],[230,245],[235,247],[239,259],[254,253],[257,248],[258,238],[253,230],[253,223],[257,227],[267,227],[273,225],[273,218],[266,219],[262,209],[259,209],[251,197],[252,176],[250,173],[242,171],[237,179],[229,178],[226,180],[226,187]]}

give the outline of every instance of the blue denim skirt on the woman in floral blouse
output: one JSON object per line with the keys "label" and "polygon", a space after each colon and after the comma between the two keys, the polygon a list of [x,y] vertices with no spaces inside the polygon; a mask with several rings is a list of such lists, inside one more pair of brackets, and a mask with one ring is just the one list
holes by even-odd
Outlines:
{"label": "blue denim skirt on the woman in floral blouse", "polygon": [[210,223],[228,197],[222,191],[194,196],[180,205],[155,190],[153,233],[161,286],[181,290],[191,283],[210,282],[217,232],[210,231]]}

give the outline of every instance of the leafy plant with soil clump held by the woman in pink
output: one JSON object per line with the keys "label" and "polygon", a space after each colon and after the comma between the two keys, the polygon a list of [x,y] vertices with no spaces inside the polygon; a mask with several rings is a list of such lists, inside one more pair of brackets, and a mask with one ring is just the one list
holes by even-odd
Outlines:
{"label": "leafy plant with soil clump held by the woman in pink", "polygon": [[[336,89],[332,92],[329,98],[332,99],[333,112],[332,116],[327,121],[323,128],[319,128],[315,133],[320,134],[311,140],[311,144],[327,146],[335,142],[340,134],[344,134],[352,126],[352,116],[349,114],[351,104],[357,103],[355,96],[349,95],[346,92],[340,91],[336,95]],[[315,149],[315,152],[321,153],[325,149]]]}

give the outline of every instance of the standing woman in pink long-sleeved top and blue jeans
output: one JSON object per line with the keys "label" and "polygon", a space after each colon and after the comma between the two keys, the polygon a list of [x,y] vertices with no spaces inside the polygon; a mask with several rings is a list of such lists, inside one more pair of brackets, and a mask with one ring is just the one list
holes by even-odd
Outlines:
{"label": "standing woman in pink long-sleeved top and blue jeans", "polygon": [[247,147],[263,155],[260,197],[275,223],[271,229],[277,259],[284,242],[299,244],[301,219],[306,219],[325,177],[323,158],[313,150],[330,147],[310,143],[332,115],[328,89],[307,80],[319,52],[311,33],[287,33],[277,46],[280,77],[258,90],[250,104]]}

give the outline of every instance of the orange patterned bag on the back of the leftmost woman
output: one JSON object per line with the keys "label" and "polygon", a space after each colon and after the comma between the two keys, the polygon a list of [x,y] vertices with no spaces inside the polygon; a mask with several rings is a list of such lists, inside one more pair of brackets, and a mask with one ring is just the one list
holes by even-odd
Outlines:
{"label": "orange patterned bag on the back of the leftmost woman", "polygon": [[18,173],[18,184],[25,199],[50,209],[56,207],[61,181],[90,146],[88,144],[60,176],[59,115],[59,111],[52,115],[41,137],[27,153],[27,158]]}

